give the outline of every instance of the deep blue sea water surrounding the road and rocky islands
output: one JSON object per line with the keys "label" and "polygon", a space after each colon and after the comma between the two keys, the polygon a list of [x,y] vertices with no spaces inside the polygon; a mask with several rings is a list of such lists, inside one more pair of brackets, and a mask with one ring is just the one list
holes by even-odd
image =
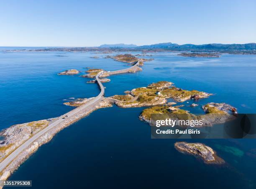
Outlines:
{"label": "deep blue sea water surrounding the road and rocky islands", "polygon": [[[256,112],[256,56],[152,55],[149,58],[155,60],[144,62],[142,72],[109,77],[111,82],[104,83],[105,96],[167,80],[182,89],[214,94],[197,102],[200,105],[226,102],[240,113]],[[84,67],[127,67],[105,56],[90,52],[0,51],[0,129],[59,116],[72,109],[62,104],[64,99],[96,96],[99,89],[96,84],[86,83],[90,79],[57,73],[77,69],[82,75]],[[201,113],[200,106],[187,106],[192,102],[182,103],[184,109]],[[227,162],[224,166],[207,165],[177,152],[177,140],[151,139],[150,127],[138,119],[143,109],[114,106],[93,112],[41,146],[10,180],[32,180],[35,188],[256,188],[256,140],[188,140],[209,145]]]}

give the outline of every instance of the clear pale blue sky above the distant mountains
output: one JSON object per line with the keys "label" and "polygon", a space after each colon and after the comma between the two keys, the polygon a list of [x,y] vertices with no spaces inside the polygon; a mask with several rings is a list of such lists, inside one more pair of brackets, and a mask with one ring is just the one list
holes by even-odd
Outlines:
{"label": "clear pale blue sky above the distant mountains", "polygon": [[0,0],[0,46],[256,42],[256,0]]}

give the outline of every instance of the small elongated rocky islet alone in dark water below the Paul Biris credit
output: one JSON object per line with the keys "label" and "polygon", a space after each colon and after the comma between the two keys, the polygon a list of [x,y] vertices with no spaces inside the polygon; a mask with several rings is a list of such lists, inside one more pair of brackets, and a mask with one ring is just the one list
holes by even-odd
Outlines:
{"label": "small elongated rocky islet alone in dark water below the Paul Biris credit", "polygon": [[174,147],[184,154],[202,159],[206,164],[223,164],[225,161],[216,155],[212,148],[202,143],[176,142]]}

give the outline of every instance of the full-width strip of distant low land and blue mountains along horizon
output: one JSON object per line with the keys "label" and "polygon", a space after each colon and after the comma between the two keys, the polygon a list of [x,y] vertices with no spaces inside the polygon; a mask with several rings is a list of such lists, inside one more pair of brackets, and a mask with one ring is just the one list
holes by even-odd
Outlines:
{"label": "full-width strip of distant low land and blue mountains along horizon", "polygon": [[[178,45],[177,43],[159,43],[153,45],[126,45],[126,44],[113,44],[113,45],[100,45],[99,47],[6,47],[0,50],[6,51],[67,51],[67,52],[90,52],[98,51],[104,53],[111,52],[218,52],[218,53],[229,53],[229,54],[246,54],[256,55],[256,43],[246,44],[184,44]],[[16,49],[15,49],[16,48]]]}

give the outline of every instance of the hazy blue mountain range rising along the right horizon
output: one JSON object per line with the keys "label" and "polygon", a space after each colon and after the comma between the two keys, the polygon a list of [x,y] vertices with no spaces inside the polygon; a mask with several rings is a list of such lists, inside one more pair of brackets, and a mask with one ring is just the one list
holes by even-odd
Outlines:
{"label": "hazy blue mountain range rising along the right horizon", "polygon": [[136,48],[136,49],[166,49],[166,50],[256,50],[256,43],[247,44],[218,44],[211,43],[205,45],[193,45],[184,44],[178,45],[177,43],[158,43],[154,45],[125,45],[125,44],[114,44],[114,45],[100,45],[100,47],[106,48]]}

